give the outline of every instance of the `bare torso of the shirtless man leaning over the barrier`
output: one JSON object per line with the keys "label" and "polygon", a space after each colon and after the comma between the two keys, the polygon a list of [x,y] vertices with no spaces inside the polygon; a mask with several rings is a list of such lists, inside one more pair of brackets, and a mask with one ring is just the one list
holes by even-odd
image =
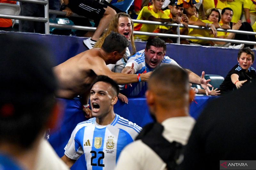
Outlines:
{"label": "bare torso of the shirtless man leaning over the barrier", "polygon": [[[90,90],[96,74],[91,70],[92,57],[100,58],[97,48],[84,51],[64,63],[54,67],[54,72],[58,78],[60,89],[57,97],[74,98]],[[104,62],[104,60],[101,58]]]}

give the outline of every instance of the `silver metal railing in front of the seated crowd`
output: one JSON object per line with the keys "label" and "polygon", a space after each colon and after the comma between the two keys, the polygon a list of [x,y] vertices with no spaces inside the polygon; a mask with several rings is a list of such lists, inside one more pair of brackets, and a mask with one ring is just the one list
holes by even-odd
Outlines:
{"label": "silver metal railing in front of the seated crowd", "polygon": [[[56,28],[69,28],[69,29],[87,30],[87,31],[95,31],[96,30],[96,27],[74,26],[74,25],[50,23],[49,22],[49,13],[65,16],[66,12],[49,10],[48,0],[17,0],[17,1],[35,3],[35,4],[43,4],[44,5],[44,18],[42,18],[42,17],[7,15],[7,14],[0,14],[0,18],[20,19],[20,20],[44,22],[45,23],[45,34],[49,34],[50,26],[51,27],[56,27]],[[77,15],[76,13],[73,13],[71,16],[85,18],[84,16]],[[148,36],[177,38],[177,43],[178,44],[180,44],[180,38],[181,38],[181,39],[196,39],[196,40],[205,40],[205,41],[222,41],[222,42],[244,43],[244,44],[256,45],[255,41],[241,41],[241,40],[230,40],[230,39],[222,39],[222,38],[210,38],[210,37],[197,37],[197,36],[189,36],[189,35],[180,35],[180,27],[184,27],[184,25],[182,25],[182,24],[170,24],[170,23],[136,20],[136,19],[132,19],[132,21],[134,23],[141,23],[141,24],[175,26],[175,27],[177,27],[177,35],[176,34],[165,34],[165,33],[149,33],[149,32],[141,32],[141,31],[134,31],[134,34],[135,35],[148,35]],[[192,26],[192,25],[188,25],[188,28],[210,30],[210,28],[205,28],[205,27],[201,27],[201,26]],[[218,28],[217,31],[228,32],[228,33],[247,34],[247,35],[256,35],[255,32],[238,31],[238,30],[230,30],[230,29],[229,30],[224,30],[224,29]]]}

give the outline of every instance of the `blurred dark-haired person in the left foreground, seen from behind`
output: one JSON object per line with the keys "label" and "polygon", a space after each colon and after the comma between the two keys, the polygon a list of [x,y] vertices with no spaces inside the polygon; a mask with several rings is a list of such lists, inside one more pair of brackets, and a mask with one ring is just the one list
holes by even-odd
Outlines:
{"label": "blurred dark-haired person in the left foreground, seen from behind", "polygon": [[43,139],[59,118],[49,48],[12,33],[0,46],[0,169],[68,169]]}

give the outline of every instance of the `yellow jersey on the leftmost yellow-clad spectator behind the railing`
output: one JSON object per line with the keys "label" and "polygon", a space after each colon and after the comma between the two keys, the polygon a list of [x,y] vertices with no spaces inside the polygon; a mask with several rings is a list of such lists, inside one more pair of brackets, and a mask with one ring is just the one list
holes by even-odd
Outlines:
{"label": "yellow jersey on the leftmost yellow-clad spectator behind the railing", "polygon": [[[164,11],[160,10],[157,13],[153,11],[153,6],[144,6],[142,10],[140,11],[137,19],[138,20],[148,20],[150,16],[153,16],[155,18],[165,18],[168,19],[169,17],[164,13]],[[143,31],[143,32],[149,32],[153,33],[154,30],[158,29],[158,25],[149,25],[149,24],[134,24],[134,31]],[[161,26],[162,29],[168,29],[166,26]],[[148,35],[134,35],[134,37],[138,37],[143,41],[147,41],[149,36]]]}

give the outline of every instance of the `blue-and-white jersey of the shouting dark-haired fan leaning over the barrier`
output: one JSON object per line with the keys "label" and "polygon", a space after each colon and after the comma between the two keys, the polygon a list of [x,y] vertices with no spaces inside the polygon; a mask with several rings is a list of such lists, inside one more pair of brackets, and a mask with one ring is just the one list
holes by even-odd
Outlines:
{"label": "blue-and-white jersey of the shouting dark-haired fan leaning over the barrier", "polygon": [[[132,66],[132,63],[134,64],[134,70],[135,74],[142,74],[144,71],[149,72],[149,71],[154,71],[155,69],[150,68],[146,63],[145,63],[145,49],[138,51],[134,55],[130,56],[128,58],[128,61],[125,65],[125,67]],[[159,64],[159,66],[164,65],[164,64],[172,64],[179,66],[180,65],[172,60],[168,56],[164,56],[164,59],[162,62]],[[158,67],[159,67],[158,66]],[[171,73],[170,73],[171,74]],[[124,89],[121,93],[124,93],[127,97],[141,97],[145,95],[145,92],[147,90],[147,83],[146,82],[139,82],[139,83],[132,83],[132,87],[127,86],[127,89]]]}

